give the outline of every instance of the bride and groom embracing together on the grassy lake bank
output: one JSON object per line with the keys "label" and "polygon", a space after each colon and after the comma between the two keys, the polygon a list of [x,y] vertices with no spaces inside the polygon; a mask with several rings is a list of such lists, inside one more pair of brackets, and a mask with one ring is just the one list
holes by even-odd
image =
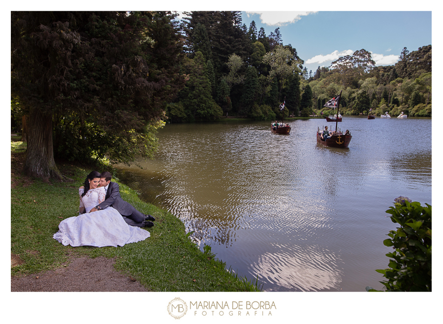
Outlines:
{"label": "bride and groom embracing together on the grassy lake bank", "polygon": [[71,246],[124,246],[150,236],[141,227],[152,227],[155,221],[135,209],[120,196],[119,185],[111,182],[109,172],[92,171],[79,188],[79,216],[59,224],[54,238]]}

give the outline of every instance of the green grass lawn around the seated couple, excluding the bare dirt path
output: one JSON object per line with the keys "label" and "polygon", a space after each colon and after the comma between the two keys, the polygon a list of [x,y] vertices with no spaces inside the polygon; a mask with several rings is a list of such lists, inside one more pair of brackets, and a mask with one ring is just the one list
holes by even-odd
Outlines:
{"label": "green grass lawn around the seated couple, excluding the bare dirt path", "polygon": [[[44,183],[24,176],[26,143],[11,137],[11,276],[24,276],[63,266],[70,257],[116,258],[115,268],[151,291],[243,292],[257,285],[226,271],[211,252],[201,252],[174,215],[139,199],[120,184],[122,198],[156,218],[151,237],[124,247],[63,246],[52,238],[59,223],[77,216],[80,187],[94,167],[58,163],[73,182]],[[118,182],[118,179],[114,179]],[[256,284],[256,283],[255,283]]]}

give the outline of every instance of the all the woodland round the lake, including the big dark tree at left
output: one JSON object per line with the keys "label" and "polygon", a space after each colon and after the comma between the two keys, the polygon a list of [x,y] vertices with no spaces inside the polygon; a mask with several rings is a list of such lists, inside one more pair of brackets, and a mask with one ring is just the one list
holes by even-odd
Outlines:
{"label": "all the woodland round the lake, including the big dark tree at left", "polygon": [[[432,47],[376,66],[365,49],[308,71],[280,29],[240,11],[11,12],[11,126],[26,174],[63,179],[54,157],[150,158],[165,122],[319,115],[431,117]],[[296,45],[296,44],[294,44]],[[279,105],[285,102],[285,109]]]}

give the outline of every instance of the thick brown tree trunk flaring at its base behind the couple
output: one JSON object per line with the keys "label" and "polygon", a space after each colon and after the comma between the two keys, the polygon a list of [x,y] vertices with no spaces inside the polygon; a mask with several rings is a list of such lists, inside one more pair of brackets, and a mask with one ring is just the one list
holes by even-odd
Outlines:
{"label": "thick brown tree trunk flaring at its base behind the couple", "polygon": [[28,116],[28,149],[23,172],[32,177],[63,180],[54,161],[52,146],[52,116],[32,109]]}

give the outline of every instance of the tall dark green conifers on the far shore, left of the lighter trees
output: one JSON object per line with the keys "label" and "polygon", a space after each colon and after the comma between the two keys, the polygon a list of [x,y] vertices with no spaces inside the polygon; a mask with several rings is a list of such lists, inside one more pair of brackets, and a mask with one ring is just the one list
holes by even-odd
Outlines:
{"label": "tall dark green conifers on the far shore, left of the lighter trees", "polygon": [[[257,120],[275,119],[286,100],[298,116],[303,61],[279,28],[269,35],[252,22],[242,24],[240,11],[186,12],[182,73],[187,82],[168,105],[172,122],[213,120],[227,114]],[[281,116],[279,116],[281,117]]]}

